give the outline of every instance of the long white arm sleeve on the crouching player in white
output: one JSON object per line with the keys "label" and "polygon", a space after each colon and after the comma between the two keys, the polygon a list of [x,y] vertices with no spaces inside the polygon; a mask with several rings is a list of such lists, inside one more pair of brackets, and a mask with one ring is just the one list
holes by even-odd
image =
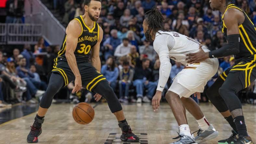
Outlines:
{"label": "long white arm sleeve on the crouching player in white", "polygon": [[[170,58],[169,58],[169,50],[167,47],[167,41],[166,41],[166,34],[161,34],[156,37],[154,41],[154,50],[157,52],[159,55],[160,59],[160,69],[159,69],[159,81],[158,81],[158,86],[157,90],[163,91],[167,80],[170,76],[171,68],[172,65],[170,63]],[[168,40],[168,42],[170,42]]]}

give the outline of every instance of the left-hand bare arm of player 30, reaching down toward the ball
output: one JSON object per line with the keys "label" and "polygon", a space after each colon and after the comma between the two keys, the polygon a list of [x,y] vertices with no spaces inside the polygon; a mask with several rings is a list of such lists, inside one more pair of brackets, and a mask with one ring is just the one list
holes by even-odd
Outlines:
{"label": "left-hand bare arm of player 30, reaching down toward the ball", "polygon": [[70,21],[67,29],[67,39],[66,39],[66,53],[65,56],[67,58],[70,69],[72,70],[75,76],[75,87],[72,90],[72,93],[78,92],[82,87],[81,75],[79,73],[76,57],[74,51],[76,50],[78,37],[81,35],[82,28],[80,23],[77,20]]}

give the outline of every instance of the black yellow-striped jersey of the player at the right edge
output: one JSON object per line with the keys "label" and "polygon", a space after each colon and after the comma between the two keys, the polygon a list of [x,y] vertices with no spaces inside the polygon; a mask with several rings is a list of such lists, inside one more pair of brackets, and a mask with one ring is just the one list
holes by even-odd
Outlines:
{"label": "black yellow-striped jersey of the player at the right edge", "polygon": [[[240,52],[235,55],[235,59],[244,58],[244,57],[251,57],[252,55],[256,54],[256,28],[247,14],[240,9],[238,6],[234,4],[230,4],[227,6],[225,12],[229,8],[237,8],[244,13],[244,22],[238,26],[239,34],[240,34]],[[227,39],[227,27],[224,23],[224,15],[222,16],[222,33],[224,37]]]}

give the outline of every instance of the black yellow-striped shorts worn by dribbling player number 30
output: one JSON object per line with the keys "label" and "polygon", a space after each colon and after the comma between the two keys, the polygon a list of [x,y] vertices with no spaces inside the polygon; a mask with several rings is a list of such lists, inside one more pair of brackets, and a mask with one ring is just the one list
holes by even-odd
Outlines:
{"label": "black yellow-striped shorts worn by dribbling player number 30", "polygon": [[[107,81],[106,78],[89,62],[77,62],[77,67],[81,75],[82,86],[89,91],[93,91],[100,82]],[[63,87],[67,86],[72,80],[75,80],[75,76],[65,58],[57,57],[54,59],[52,72],[59,73],[63,77]]]}

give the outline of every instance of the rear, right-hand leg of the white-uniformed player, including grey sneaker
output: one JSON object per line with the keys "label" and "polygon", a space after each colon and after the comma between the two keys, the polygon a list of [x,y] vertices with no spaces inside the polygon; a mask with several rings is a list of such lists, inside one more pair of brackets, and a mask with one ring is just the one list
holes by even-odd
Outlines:
{"label": "rear, right-hand leg of the white-uniformed player, including grey sneaker", "polygon": [[[194,93],[194,92],[192,92]],[[187,97],[182,97],[181,101],[186,107],[186,110],[194,116],[199,125],[199,130],[196,136],[196,142],[201,143],[218,136],[218,131],[207,121],[202,113],[199,105],[190,97],[191,93],[187,94]]]}

